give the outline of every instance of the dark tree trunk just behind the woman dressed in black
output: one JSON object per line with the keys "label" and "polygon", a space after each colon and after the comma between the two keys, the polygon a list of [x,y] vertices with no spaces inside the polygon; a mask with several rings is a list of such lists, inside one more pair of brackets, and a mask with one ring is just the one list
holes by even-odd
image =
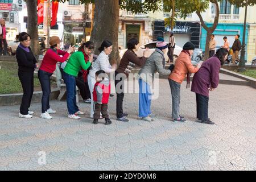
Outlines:
{"label": "dark tree trunk just behind the woman dressed in black", "polygon": [[38,43],[37,1],[27,1],[27,33],[31,36],[31,49],[35,55],[40,54]]}

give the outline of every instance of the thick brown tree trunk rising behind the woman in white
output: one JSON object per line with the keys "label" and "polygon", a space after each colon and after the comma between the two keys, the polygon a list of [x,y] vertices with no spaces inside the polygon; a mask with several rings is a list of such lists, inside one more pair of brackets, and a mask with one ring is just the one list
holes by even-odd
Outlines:
{"label": "thick brown tree trunk rising behind the woman in white", "polygon": [[93,19],[93,30],[90,40],[96,47],[95,53],[100,53],[98,47],[103,40],[113,43],[113,51],[109,57],[110,63],[119,63],[118,49],[118,24],[119,24],[119,4],[113,0],[95,0],[95,10]]}

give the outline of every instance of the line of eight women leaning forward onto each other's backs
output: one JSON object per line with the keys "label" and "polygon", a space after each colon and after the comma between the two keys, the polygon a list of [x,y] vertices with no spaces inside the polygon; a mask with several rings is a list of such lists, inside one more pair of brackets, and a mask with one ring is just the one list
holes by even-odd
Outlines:
{"label": "line of eight women leaning forward onto each other's backs", "polygon": [[[36,59],[30,49],[30,35],[26,32],[22,32],[19,35],[20,45],[17,49],[16,58],[19,65],[19,79],[23,87],[23,98],[22,104],[20,105],[19,117],[31,118],[34,112],[29,111],[33,88],[34,88],[34,70],[36,68]],[[56,63],[64,62],[68,59],[68,63],[64,68],[64,81],[67,86],[67,107],[68,107],[68,118],[80,119],[78,115],[85,114],[79,110],[76,104],[76,76],[79,70],[82,68],[84,71],[89,70],[93,61],[93,43],[86,42],[82,44],[79,51],[69,55],[74,51],[73,47],[69,47],[67,52],[60,51],[60,39],[56,36],[52,36],[50,39],[51,48],[48,49],[42,65],[38,72],[38,77],[43,90],[42,97],[42,118],[51,119],[51,115],[56,113],[49,106],[49,94],[51,93],[51,83],[50,77],[56,69]],[[209,90],[212,91],[217,88],[218,85],[218,73],[220,66],[224,63],[228,51],[225,48],[218,49],[215,56],[211,57],[204,62],[202,67],[195,68],[191,63],[191,56],[193,54],[192,43],[188,42],[184,45],[183,51],[181,51],[180,56],[176,60],[175,68],[171,71],[169,69],[164,69],[164,54],[167,51],[167,44],[164,42],[163,38],[158,38],[156,44],[156,49],[154,53],[149,56],[148,50],[144,51],[143,57],[138,57],[135,55],[135,51],[138,49],[138,41],[136,39],[131,39],[127,43],[129,49],[127,49],[125,55],[121,59],[119,68],[117,65],[110,65],[109,55],[112,52],[112,43],[108,40],[102,42],[99,50],[101,51],[97,60],[94,62],[92,69],[90,69],[88,75],[88,84],[90,89],[91,97],[93,97],[93,86],[96,82],[95,72],[99,70],[104,70],[106,73],[114,73],[115,77],[119,74],[124,74],[125,77],[121,79],[115,79],[115,86],[123,79],[127,78],[131,69],[137,65],[143,65],[141,71],[139,72],[139,117],[145,121],[152,121],[155,114],[151,113],[151,85],[149,77],[154,77],[154,73],[157,71],[160,75],[170,75],[169,83],[172,94],[172,120],[175,122],[184,122],[185,119],[179,113],[180,105],[180,86],[185,76],[187,75],[187,84],[190,84],[189,73],[196,73],[192,82],[192,92],[196,93],[196,103],[197,103],[197,118],[199,121],[208,124],[214,124],[208,118],[208,101],[209,101]],[[60,56],[61,55],[61,56]],[[149,56],[149,57],[148,57]],[[146,58],[148,59],[146,60]],[[117,69],[117,71],[115,71]],[[210,88],[210,89],[209,89]],[[124,91],[123,88],[121,93],[117,92],[117,120],[118,121],[129,121],[125,118],[126,113],[123,113],[122,104]],[[93,118],[94,109],[93,102],[91,104],[90,117]]]}

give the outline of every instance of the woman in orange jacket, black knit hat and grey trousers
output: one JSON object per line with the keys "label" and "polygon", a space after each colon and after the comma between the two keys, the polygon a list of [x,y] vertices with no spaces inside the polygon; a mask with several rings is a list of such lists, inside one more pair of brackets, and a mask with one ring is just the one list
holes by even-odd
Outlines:
{"label": "woman in orange jacket, black knit hat and grey trousers", "polygon": [[180,85],[187,76],[187,88],[190,86],[190,73],[196,73],[199,68],[195,68],[191,63],[191,56],[195,46],[191,42],[187,42],[183,46],[179,57],[175,61],[175,67],[169,76],[169,84],[172,94],[172,119],[174,122],[185,122],[183,116],[180,115]]}

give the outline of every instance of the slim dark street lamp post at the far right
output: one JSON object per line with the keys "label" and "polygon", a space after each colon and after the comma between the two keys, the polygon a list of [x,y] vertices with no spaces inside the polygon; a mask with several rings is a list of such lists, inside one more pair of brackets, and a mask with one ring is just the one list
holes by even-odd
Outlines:
{"label": "slim dark street lamp post at the far right", "polygon": [[241,49],[241,59],[240,59],[240,63],[238,64],[238,66],[240,68],[238,68],[237,71],[239,72],[243,72],[246,69],[242,68],[245,67],[245,32],[246,32],[246,18],[247,18],[247,6],[248,6],[248,0],[245,0],[245,22],[243,23],[243,42],[242,42],[242,49]]}

